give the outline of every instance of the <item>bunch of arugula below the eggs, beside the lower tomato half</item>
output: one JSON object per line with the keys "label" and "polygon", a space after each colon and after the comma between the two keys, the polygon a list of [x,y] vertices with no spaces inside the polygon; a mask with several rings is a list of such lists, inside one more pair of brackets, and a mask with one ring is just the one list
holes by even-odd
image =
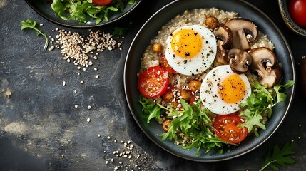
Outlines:
{"label": "bunch of arugula below the eggs, beside the lower tomato half", "polygon": [[[200,100],[197,104],[189,105],[185,100],[181,99],[180,103],[184,108],[183,111],[165,108],[158,103],[149,103],[149,100],[146,98],[142,98],[140,103],[143,105],[143,112],[148,116],[147,123],[152,118],[160,119],[160,111],[167,111],[169,116],[179,116],[172,120],[168,132],[160,134],[162,140],[168,139],[183,142],[180,147],[186,150],[195,147],[198,149],[196,154],[198,154],[201,148],[205,148],[206,152],[217,148],[222,153],[223,144],[228,144],[228,142],[221,140],[211,131],[213,130],[213,125],[210,125],[209,111],[207,109],[200,109]],[[180,137],[178,133],[183,133],[184,136]]]}

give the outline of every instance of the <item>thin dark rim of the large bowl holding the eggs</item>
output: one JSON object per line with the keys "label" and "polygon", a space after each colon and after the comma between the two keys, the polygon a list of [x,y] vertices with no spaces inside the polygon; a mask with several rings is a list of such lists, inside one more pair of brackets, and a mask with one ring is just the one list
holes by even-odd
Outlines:
{"label": "thin dark rim of the large bowl holding the eggs", "polygon": [[[155,18],[155,16],[157,16],[160,11],[163,11],[164,9],[168,8],[168,6],[172,6],[173,4],[176,4],[178,3],[180,0],[175,0],[173,2],[170,2],[169,4],[163,6],[161,9],[159,9],[158,11],[155,12],[155,14],[153,14],[146,22],[145,24],[143,24],[143,26],[141,26],[141,28],[139,29],[139,31],[136,33],[136,36],[134,36],[133,38],[133,41],[131,43],[131,46],[128,48],[128,53],[126,55],[126,61],[125,61],[125,65],[124,65],[124,71],[123,71],[123,86],[124,86],[124,92],[125,92],[125,96],[126,96],[126,101],[128,103],[128,108],[131,112],[131,115],[133,115],[133,118],[134,120],[136,120],[136,123],[137,125],[141,128],[141,130],[143,131],[143,133],[146,134],[146,136],[155,143],[155,145],[158,145],[161,149],[169,152],[170,154],[172,155],[175,155],[177,157],[181,157],[183,159],[186,159],[186,160],[191,160],[191,161],[195,161],[195,162],[220,162],[220,161],[225,161],[225,160],[230,160],[230,159],[233,159],[233,158],[237,158],[237,157],[240,157],[242,155],[245,155],[253,150],[255,150],[257,147],[260,147],[260,145],[262,145],[264,142],[266,142],[274,133],[275,131],[280,127],[280,125],[282,124],[283,120],[285,120],[285,117],[288,113],[288,111],[290,110],[291,106],[292,106],[292,101],[293,101],[293,98],[295,96],[295,89],[296,89],[296,83],[292,86],[291,90],[290,90],[290,94],[288,93],[287,95],[290,96],[288,100],[288,105],[287,105],[287,108],[286,110],[284,111],[284,115],[282,116],[280,122],[276,125],[276,128],[274,130],[272,130],[272,132],[264,139],[262,140],[261,142],[259,142],[257,145],[255,145],[254,147],[252,147],[250,150],[246,150],[245,152],[241,152],[240,154],[238,155],[234,155],[232,157],[228,157],[228,158],[221,158],[221,159],[213,159],[213,160],[197,160],[197,159],[194,159],[194,158],[190,158],[190,157],[184,157],[184,156],[181,156],[181,155],[178,155],[176,154],[175,152],[171,152],[170,150],[168,150],[167,148],[163,147],[163,145],[160,145],[158,142],[155,142],[155,140],[153,138],[151,138],[151,136],[146,133],[146,130],[144,130],[141,126],[141,124],[139,123],[139,120],[138,118],[136,118],[136,114],[133,113],[133,107],[131,105],[131,103],[129,102],[128,100],[128,89],[127,89],[127,86],[126,86],[126,82],[127,82],[127,72],[126,72],[126,67],[127,66],[127,63],[128,63],[128,56],[130,56],[130,53],[131,53],[131,47],[133,46],[133,43],[135,43],[136,41],[136,38],[139,36],[139,34],[141,33],[141,31],[143,30],[143,28],[145,28],[153,18]],[[282,38],[282,41],[284,41],[285,43],[285,46],[287,46],[288,48],[288,52],[290,54],[290,58],[291,58],[291,61],[292,61],[292,80],[296,82],[296,71],[295,71],[295,62],[294,62],[294,58],[293,58],[293,55],[292,55],[292,51],[290,49],[290,46],[289,44],[287,43],[287,40],[285,38],[285,36],[282,34],[282,32],[280,31],[280,29],[274,24],[274,22],[265,14],[263,13],[260,9],[258,9],[256,6],[254,6],[253,4],[250,4],[249,2],[247,1],[243,1],[243,0],[236,0],[236,1],[239,1],[240,3],[243,3],[245,5],[248,5],[250,7],[253,7],[253,9],[257,12],[259,12],[262,16],[264,16],[269,22],[270,24],[272,24],[272,26],[277,30],[277,33],[280,35],[280,38]]]}

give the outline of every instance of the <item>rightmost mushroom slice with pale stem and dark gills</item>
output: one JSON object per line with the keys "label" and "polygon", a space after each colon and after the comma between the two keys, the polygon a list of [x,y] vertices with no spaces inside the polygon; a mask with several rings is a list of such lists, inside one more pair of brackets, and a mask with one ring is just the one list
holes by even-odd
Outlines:
{"label": "rightmost mushroom slice with pale stem and dark gills", "polygon": [[282,68],[277,66],[277,58],[275,53],[269,48],[253,48],[248,51],[252,56],[251,68],[255,70],[258,75],[258,81],[262,86],[272,88],[276,83],[280,82],[282,78]]}

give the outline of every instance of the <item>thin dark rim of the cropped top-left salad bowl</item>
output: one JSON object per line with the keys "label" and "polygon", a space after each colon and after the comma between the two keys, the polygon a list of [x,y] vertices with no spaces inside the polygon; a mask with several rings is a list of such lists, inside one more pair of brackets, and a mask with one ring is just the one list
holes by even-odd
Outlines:
{"label": "thin dark rim of the cropped top-left salad bowl", "polygon": [[96,27],[99,27],[99,26],[106,26],[108,24],[113,24],[115,21],[123,19],[125,16],[130,14],[134,9],[136,9],[136,7],[141,3],[142,0],[135,1],[135,4],[133,4],[133,6],[131,7],[130,10],[128,10],[128,11],[126,11],[126,13],[123,13],[122,15],[116,17],[115,19],[112,19],[111,21],[108,21],[106,23],[95,24],[95,25],[88,25],[88,26],[86,26],[86,25],[75,26],[75,25],[70,25],[70,24],[63,24],[63,23],[58,22],[56,20],[53,20],[53,19],[49,18],[48,16],[44,15],[43,13],[41,13],[41,11],[39,9],[36,9],[35,6],[33,6],[33,4],[31,4],[31,2],[29,0],[24,0],[24,1],[26,1],[26,4],[31,6],[31,9],[33,9],[37,14],[44,17],[44,19],[46,19],[48,21],[51,21],[54,24],[58,24],[59,26],[65,26],[65,27],[68,27],[68,28],[96,28]]}

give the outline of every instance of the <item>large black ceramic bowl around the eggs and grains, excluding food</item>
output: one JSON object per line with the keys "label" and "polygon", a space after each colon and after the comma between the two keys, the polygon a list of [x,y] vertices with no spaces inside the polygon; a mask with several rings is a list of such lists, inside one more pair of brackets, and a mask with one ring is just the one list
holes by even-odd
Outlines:
{"label": "large black ceramic bowl around the eggs and grains, excluding food", "polygon": [[236,11],[239,16],[254,21],[258,29],[267,34],[272,43],[275,44],[275,53],[277,58],[282,63],[284,69],[283,83],[288,80],[295,80],[295,64],[293,62],[292,53],[280,30],[272,23],[272,21],[262,13],[259,9],[245,1],[237,0],[188,0],[188,1],[173,1],[173,3],[160,9],[144,24],[131,44],[126,58],[126,65],[124,70],[124,88],[126,92],[126,100],[131,110],[133,118],[135,118],[141,130],[150,138],[156,145],[162,147],[164,150],[183,157],[188,160],[195,160],[200,162],[212,162],[220,160],[228,160],[247,152],[254,150],[256,147],[262,145],[270,136],[275,133],[275,130],[280,126],[284,120],[295,91],[295,86],[287,92],[287,99],[285,102],[279,103],[273,108],[273,115],[268,120],[266,130],[260,130],[260,136],[257,138],[255,135],[248,136],[241,144],[224,154],[219,154],[217,150],[205,153],[205,150],[200,150],[198,155],[195,155],[196,149],[183,150],[182,148],[173,144],[169,140],[161,140],[158,136],[164,133],[161,126],[156,122],[146,123],[146,120],[141,117],[141,104],[138,103],[140,94],[138,93],[137,72],[140,67],[141,56],[145,48],[149,45],[150,40],[154,38],[157,31],[161,26],[166,24],[170,19],[173,19],[177,14],[182,14],[186,9],[196,8],[210,8],[217,7],[225,11]]}

